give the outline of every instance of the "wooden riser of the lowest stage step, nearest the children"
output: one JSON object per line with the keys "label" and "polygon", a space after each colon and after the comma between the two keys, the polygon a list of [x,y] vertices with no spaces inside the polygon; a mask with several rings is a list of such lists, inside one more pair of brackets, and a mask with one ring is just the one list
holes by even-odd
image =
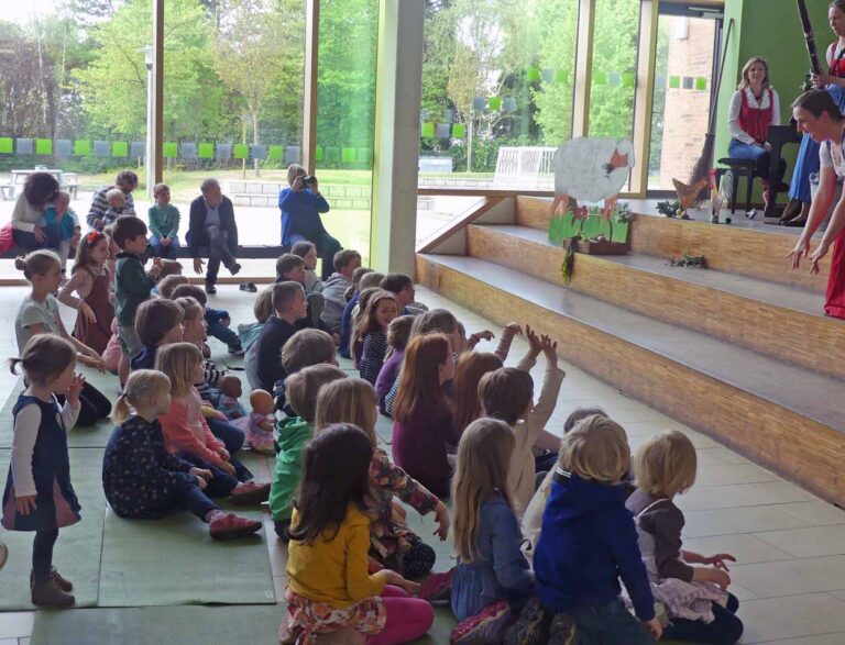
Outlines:
{"label": "wooden riser of the lowest stage step, nearest the children", "polygon": [[845,503],[838,477],[845,434],[424,256],[417,256],[417,281],[498,324],[518,320],[551,334],[561,357],[584,371]]}

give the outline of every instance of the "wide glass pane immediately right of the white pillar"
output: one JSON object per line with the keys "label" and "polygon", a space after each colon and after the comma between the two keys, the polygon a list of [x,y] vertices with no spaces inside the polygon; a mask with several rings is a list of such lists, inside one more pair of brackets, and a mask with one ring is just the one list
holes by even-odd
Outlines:
{"label": "wide glass pane immediately right of the white pillar", "polygon": [[421,187],[551,188],[577,29],[578,0],[428,0]]}

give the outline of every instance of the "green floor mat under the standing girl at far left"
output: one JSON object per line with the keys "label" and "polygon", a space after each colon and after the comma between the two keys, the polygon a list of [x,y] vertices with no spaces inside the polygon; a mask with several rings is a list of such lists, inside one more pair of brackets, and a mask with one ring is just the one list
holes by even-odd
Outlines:
{"label": "green floor mat under the standing girl at far left", "polygon": [[[97,604],[100,575],[100,549],[106,511],[102,492],[102,451],[70,451],[70,481],[83,505],[83,519],[58,532],[53,563],[74,583],[76,607]],[[9,472],[10,451],[0,451],[2,485]],[[0,530],[0,540],[9,547],[9,561],[0,570],[0,610],[32,609],[30,569],[34,533]]]}

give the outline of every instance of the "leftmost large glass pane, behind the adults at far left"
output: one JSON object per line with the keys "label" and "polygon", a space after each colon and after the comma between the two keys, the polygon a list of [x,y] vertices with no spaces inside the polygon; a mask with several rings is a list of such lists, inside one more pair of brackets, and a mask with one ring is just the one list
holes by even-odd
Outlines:
{"label": "leftmost large glass pane, behind the adults at far left", "polygon": [[2,3],[0,222],[35,169],[59,179],[83,220],[118,169],[143,181],[150,24],[149,0]]}

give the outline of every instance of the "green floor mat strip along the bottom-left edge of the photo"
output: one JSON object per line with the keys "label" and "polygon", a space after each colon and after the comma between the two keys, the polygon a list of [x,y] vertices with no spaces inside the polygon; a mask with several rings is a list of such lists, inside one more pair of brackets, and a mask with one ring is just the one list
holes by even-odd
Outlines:
{"label": "green floor mat strip along the bottom-left edge of the photo", "polygon": [[282,608],[266,604],[41,611],[35,614],[32,644],[271,644],[278,642],[281,619]]}

